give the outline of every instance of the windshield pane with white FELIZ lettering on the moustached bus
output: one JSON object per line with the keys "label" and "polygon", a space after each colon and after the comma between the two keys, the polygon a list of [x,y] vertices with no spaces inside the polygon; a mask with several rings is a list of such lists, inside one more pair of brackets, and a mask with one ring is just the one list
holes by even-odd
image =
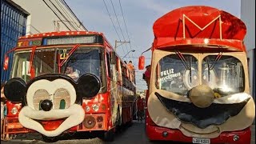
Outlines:
{"label": "windshield pane with white FELIZ lettering on the moustached bus", "polygon": [[169,54],[160,59],[156,73],[158,89],[186,96],[188,90],[198,86],[197,58],[190,54],[182,54],[182,58]]}

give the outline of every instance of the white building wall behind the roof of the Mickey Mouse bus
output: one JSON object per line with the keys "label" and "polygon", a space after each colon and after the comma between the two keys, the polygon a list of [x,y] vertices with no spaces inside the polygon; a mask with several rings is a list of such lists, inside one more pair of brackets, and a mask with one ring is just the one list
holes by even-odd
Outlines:
{"label": "white building wall behind the roof of the Mickey Mouse bus", "polygon": [[[12,0],[30,13],[26,35],[62,30],[86,30],[65,1]],[[87,31],[87,30],[86,30]]]}

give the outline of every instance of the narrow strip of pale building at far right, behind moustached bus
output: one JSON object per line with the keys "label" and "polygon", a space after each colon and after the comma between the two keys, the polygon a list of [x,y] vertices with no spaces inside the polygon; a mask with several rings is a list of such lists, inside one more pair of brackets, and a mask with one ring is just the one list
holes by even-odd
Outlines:
{"label": "narrow strip of pale building at far right, behind moustached bus", "polygon": [[241,0],[241,19],[247,29],[245,45],[249,60],[250,94],[255,101],[255,0]]}

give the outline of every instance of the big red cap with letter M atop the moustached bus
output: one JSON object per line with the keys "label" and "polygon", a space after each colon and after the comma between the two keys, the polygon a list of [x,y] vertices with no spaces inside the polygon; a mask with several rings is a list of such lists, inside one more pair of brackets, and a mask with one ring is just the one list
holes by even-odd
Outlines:
{"label": "big red cap with letter M atop the moustached bus", "polygon": [[221,46],[245,51],[246,25],[234,15],[209,6],[186,6],[154,22],[153,49],[172,46]]}

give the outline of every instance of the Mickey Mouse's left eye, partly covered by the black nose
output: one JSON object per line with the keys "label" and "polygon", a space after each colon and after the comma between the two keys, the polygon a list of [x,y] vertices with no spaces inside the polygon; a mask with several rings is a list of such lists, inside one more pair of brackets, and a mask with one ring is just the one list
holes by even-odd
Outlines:
{"label": "Mickey Mouse's left eye, partly covered by the black nose", "polygon": [[33,97],[33,104],[34,104],[34,109],[35,110],[42,110],[41,109],[41,102],[43,100],[49,99],[50,100],[50,94],[48,93],[48,91],[46,90],[37,90],[34,93],[34,97]]}

